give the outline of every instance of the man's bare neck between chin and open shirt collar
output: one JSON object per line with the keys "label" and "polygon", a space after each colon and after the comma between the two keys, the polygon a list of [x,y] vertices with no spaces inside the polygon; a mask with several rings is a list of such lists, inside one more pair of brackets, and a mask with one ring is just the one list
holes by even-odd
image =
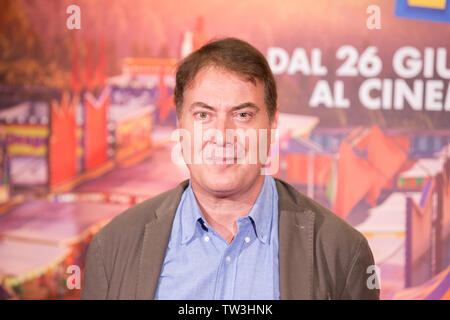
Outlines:
{"label": "man's bare neck between chin and open shirt collar", "polygon": [[191,179],[192,190],[205,220],[227,243],[230,243],[237,233],[237,219],[250,213],[263,184],[264,176],[258,175],[255,182],[247,188],[219,197]]}

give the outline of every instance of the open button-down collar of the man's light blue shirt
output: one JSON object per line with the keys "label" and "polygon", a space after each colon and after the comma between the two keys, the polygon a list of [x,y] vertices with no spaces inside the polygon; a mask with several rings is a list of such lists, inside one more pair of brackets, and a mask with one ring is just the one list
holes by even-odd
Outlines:
{"label": "open button-down collar of the man's light blue shirt", "polygon": [[[238,225],[245,219],[250,220],[253,229],[258,239],[266,243],[270,239],[273,215],[274,213],[274,198],[276,192],[275,181],[269,175],[264,178],[264,183],[261,191],[253,205],[250,213],[246,217],[239,218]],[[186,244],[195,235],[198,227],[208,231],[209,226],[203,219],[203,215],[192,190],[191,181],[185,190],[185,197],[182,198],[181,203],[181,244]]]}

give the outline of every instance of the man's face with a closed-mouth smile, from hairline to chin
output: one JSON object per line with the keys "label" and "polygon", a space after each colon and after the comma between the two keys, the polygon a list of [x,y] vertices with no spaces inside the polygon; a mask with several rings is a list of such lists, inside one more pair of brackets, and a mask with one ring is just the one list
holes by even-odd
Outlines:
{"label": "man's face with a closed-mouth smile, from hairline to chin", "polygon": [[192,183],[227,196],[262,179],[276,119],[269,119],[262,82],[255,85],[221,68],[201,69],[185,89],[178,124],[191,140],[182,148]]}

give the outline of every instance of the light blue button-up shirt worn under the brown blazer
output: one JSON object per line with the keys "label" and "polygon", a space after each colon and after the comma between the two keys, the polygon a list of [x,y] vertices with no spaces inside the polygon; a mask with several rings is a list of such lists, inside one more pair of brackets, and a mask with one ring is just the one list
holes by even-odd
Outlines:
{"label": "light blue button-up shirt worn under the brown blazer", "polygon": [[175,213],[155,299],[279,299],[278,193],[265,176],[228,244],[203,217],[191,184]]}

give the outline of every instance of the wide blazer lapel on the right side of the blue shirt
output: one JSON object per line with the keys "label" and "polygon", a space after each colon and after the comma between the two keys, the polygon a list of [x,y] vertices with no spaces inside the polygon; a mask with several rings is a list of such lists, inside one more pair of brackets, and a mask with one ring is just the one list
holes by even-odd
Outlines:
{"label": "wide blazer lapel on the right side of the blue shirt", "polygon": [[292,202],[283,186],[278,188],[278,193],[280,298],[310,300],[313,298],[315,214]]}

